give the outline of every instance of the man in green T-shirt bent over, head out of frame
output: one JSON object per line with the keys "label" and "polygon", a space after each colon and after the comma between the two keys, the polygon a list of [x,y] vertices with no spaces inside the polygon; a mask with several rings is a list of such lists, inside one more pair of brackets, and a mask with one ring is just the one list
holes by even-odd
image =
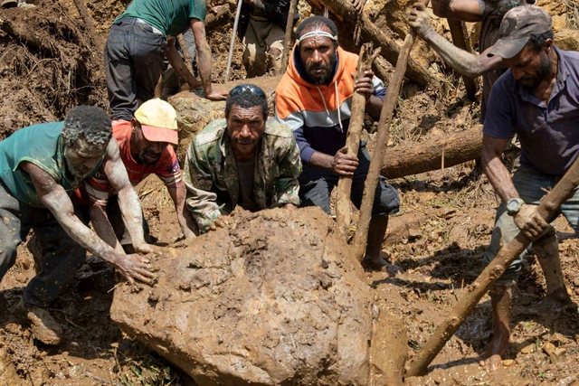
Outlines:
{"label": "man in green T-shirt bent over, head out of frame", "polygon": [[[131,120],[138,105],[155,95],[163,61],[194,89],[223,100],[223,91],[211,84],[211,49],[205,37],[204,0],[133,0],[110,27],[105,46],[105,74],[113,119]],[[201,81],[187,70],[175,47],[176,36],[191,28],[197,47]]]}

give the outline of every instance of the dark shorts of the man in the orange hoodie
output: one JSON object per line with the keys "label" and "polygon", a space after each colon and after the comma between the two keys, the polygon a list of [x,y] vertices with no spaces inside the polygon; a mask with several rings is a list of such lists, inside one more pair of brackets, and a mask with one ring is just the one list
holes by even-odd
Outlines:
{"label": "dark shorts of the man in the orange hoodie", "polygon": [[[370,154],[364,144],[358,150],[359,165],[354,172],[352,181],[352,193],[350,199],[360,209],[364,193],[365,177],[370,167]],[[332,171],[321,167],[308,167],[303,165],[303,172],[299,175],[299,198],[301,206],[318,206],[331,214],[329,207],[330,193],[337,185],[339,176]],[[372,217],[387,216],[400,211],[400,196],[394,187],[386,183],[386,179],[380,176],[376,186]]]}

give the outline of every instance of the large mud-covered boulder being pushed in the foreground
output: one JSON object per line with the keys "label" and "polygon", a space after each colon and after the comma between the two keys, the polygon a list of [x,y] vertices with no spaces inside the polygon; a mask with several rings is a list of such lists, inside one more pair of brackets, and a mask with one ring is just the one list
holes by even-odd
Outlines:
{"label": "large mud-covered boulder being pushed in the foreground", "polygon": [[234,212],[158,259],[154,287],[118,287],[110,315],[199,386],[399,384],[403,324],[348,250],[318,208]]}

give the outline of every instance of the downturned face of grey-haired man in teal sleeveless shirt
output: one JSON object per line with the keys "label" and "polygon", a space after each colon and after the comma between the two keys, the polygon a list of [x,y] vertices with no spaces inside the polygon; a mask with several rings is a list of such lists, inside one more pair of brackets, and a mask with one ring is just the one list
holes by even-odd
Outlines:
{"label": "downturned face of grey-haired man in teal sleeveless shirt", "polygon": [[81,182],[99,164],[107,146],[94,146],[79,138],[71,146],[64,145],[66,169],[75,182]]}

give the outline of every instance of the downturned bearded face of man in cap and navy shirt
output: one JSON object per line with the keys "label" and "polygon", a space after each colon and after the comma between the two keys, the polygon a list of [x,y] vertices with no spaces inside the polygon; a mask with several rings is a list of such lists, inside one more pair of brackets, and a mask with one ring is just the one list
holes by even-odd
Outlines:
{"label": "downturned bearded face of man in cap and navy shirt", "polygon": [[510,59],[503,59],[503,62],[513,72],[515,80],[519,81],[527,89],[535,90],[551,71],[552,61],[547,53],[551,49],[551,44],[546,44],[538,51],[531,50],[528,46],[525,46],[516,56]]}

